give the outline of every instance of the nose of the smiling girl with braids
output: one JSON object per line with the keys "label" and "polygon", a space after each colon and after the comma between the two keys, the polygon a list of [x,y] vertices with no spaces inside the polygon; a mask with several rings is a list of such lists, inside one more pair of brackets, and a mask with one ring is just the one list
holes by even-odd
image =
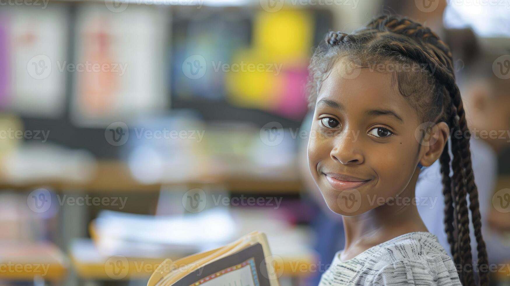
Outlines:
{"label": "nose of the smiling girl with braids", "polygon": [[361,142],[352,136],[353,132],[339,134],[333,144],[335,145],[329,154],[331,159],[342,164],[361,164],[364,161]]}

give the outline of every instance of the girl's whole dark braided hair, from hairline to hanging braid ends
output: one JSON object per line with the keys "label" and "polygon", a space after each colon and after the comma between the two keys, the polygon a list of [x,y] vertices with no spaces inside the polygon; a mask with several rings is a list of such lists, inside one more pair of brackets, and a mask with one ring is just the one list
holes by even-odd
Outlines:
{"label": "girl's whole dark braided hair, from hairline to hanging braid ends", "polygon": [[[461,93],[455,83],[448,45],[429,28],[406,17],[380,16],[351,34],[331,31],[311,59],[308,85],[310,107],[315,106],[321,84],[333,66],[343,60],[358,67],[367,67],[371,62],[418,64],[422,67],[413,72],[394,71],[393,80],[402,96],[417,111],[420,122],[445,122],[455,135],[450,136],[451,146],[447,141],[439,159],[445,202],[445,232],[461,282],[464,285],[488,285],[487,271],[478,273],[478,283],[475,283],[473,275],[477,269],[473,268],[471,254],[467,195],[477,243],[476,265],[487,267],[488,258],[481,234],[478,190],[469,149],[471,133]],[[471,270],[467,267],[471,267]]]}

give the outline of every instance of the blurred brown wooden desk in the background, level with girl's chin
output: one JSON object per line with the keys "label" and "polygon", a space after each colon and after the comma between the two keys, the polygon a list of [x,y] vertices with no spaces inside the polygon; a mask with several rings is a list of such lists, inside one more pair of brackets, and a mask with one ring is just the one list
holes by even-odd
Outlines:
{"label": "blurred brown wooden desk in the background, level with girl's chin", "polygon": [[[297,177],[297,176],[296,176]],[[298,193],[301,187],[299,179],[278,179],[262,176],[205,176],[197,180],[183,180],[158,183],[143,183],[131,175],[129,166],[121,161],[99,161],[90,180],[72,181],[65,178],[38,178],[31,181],[13,182],[5,173],[0,172],[0,188],[34,189],[50,187],[59,191],[81,190],[83,192],[101,191],[150,191],[159,192],[162,186],[188,186],[190,188],[221,185],[233,193],[267,193],[277,190],[282,193]]]}

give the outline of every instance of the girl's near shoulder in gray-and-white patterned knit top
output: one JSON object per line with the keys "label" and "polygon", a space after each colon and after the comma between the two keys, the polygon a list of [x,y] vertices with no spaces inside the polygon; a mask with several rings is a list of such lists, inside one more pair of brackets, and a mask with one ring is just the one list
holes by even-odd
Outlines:
{"label": "girl's near shoulder in gray-and-white patterned knit top", "polygon": [[453,260],[428,232],[415,232],[381,245],[366,274],[369,285],[462,285]]}

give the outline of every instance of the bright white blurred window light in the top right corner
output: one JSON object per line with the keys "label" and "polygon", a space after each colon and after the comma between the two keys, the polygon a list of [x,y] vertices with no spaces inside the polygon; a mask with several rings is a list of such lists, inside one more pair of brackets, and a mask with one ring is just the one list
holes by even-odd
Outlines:
{"label": "bright white blurred window light in the top right corner", "polygon": [[445,27],[470,27],[480,37],[510,37],[510,2],[507,0],[448,0]]}

